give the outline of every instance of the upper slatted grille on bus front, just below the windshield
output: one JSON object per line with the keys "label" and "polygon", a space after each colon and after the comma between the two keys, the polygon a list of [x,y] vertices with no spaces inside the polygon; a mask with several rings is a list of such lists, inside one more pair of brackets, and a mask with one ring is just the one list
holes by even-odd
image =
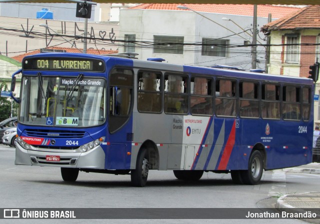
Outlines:
{"label": "upper slatted grille on bus front, just below the windshield", "polygon": [[84,131],[67,130],[46,130],[46,129],[26,129],[28,136],[32,137],[54,137],[54,138],[79,138],[83,137]]}

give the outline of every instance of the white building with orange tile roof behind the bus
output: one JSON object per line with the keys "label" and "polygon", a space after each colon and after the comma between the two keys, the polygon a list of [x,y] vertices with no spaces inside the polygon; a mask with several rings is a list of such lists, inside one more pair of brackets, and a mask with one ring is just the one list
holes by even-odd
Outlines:
{"label": "white building with orange tile roof behind the bus", "polygon": [[[245,45],[252,41],[253,5],[184,5],[191,10],[179,9],[178,4],[141,4],[120,10],[119,38],[128,42],[119,51],[134,51],[139,59],[161,57],[179,64],[251,68],[251,46]],[[273,20],[295,10],[258,5],[257,30],[268,22],[268,13]],[[266,43],[262,38],[263,34],[257,35],[257,44]],[[265,48],[257,46],[256,68],[264,67]]]}

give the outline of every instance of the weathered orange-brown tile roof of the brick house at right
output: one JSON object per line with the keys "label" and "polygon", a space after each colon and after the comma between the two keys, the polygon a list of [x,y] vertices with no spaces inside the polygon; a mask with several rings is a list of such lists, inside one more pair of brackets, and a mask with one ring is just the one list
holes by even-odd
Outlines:
{"label": "weathered orange-brown tile roof of the brick house at right", "polygon": [[320,29],[320,5],[308,5],[262,26],[262,31],[277,29]]}

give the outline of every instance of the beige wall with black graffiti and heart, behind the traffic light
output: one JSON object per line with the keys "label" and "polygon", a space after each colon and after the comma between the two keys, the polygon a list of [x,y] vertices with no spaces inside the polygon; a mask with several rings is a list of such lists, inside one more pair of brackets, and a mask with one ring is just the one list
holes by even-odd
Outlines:
{"label": "beige wall with black graffiti and heart, behind the traffic light", "polygon": [[[0,16],[0,21],[2,27],[6,29],[2,29],[2,32],[0,33],[0,55],[12,57],[39,48],[44,48],[46,46],[73,48],[76,46],[76,48],[80,49],[79,52],[82,51],[83,42],[81,41],[81,35],[84,30],[83,22],[12,18],[3,16]],[[40,24],[47,24],[50,28],[47,29],[39,26]],[[112,43],[112,41],[118,38],[118,27],[119,26],[117,24],[89,22],[88,36],[99,39],[95,41],[88,40],[87,48],[116,50],[118,46],[116,42]],[[112,41],[106,40],[112,36],[112,30],[114,33]],[[52,35],[50,35],[49,32],[51,34],[59,33],[69,36],[54,36],[54,38],[52,38]],[[77,37],[80,38],[77,39]]]}

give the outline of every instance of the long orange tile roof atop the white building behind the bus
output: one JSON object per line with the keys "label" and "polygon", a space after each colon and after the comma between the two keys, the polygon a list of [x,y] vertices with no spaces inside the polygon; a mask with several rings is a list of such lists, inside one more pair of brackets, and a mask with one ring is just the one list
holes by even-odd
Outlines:
{"label": "long orange tile roof atop the white building behind the bus", "polygon": [[[253,4],[140,4],[129,9],[157,9],[157,10],[188,10],[180,9],[176,6],[183,5],[194,11],[211,12],[221,14],[234,15],[253,15]],[[263,5],[257,6],[258,17],[268,17],[271,13],[272,18],[280,18],[288,13],[299,10],[299,7],[288,7],[278,5]]]}

